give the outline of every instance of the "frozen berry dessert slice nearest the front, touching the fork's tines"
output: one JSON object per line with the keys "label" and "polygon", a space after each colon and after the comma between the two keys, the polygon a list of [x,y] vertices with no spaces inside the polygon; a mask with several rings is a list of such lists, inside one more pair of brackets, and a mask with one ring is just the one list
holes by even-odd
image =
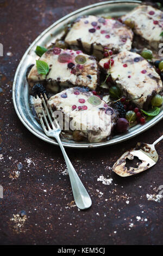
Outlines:
{"label": "frozen berry dessert slice nearest the front, touching the fork's tines", "polygon": [[[109,138],[116,124],[116,112],[101,98],[85,88],[73,87],[49,99],[53,115],[58,116],[62,130],[77,130],[90,142]],[[34,102],[37,114],[41,113],[41,100]]]}

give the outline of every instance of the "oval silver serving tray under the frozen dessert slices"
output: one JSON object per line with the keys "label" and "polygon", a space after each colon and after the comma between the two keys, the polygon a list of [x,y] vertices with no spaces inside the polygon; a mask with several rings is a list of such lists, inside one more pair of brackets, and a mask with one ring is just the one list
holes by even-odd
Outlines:
{"label": "oval silver serving tray under the frozen dessert slices", "polygon": [[[64,33],[64,26],[68,22],[72,22],[78,16],[81,15],[97,15],[97,16],[121,16],[123,14],[128,13],[130,10],[139,5],[141,1],[106,1],[102,3],[92,4],[77,11],[74,11],[71,14],[62,17],[62,19],[55,22],[52,26],[47,28],[44,32],[42,32],[39,37],[33,42],[32,45],[28,48],[18,68],[16,70],[14,84],[13,84],[13,102],[15,106],[16,113],[20,118],[21,122],[24,126],[27,127],[30,132],[36,135],[38,138],[49,142],[54,145],[58,145],[53,139],[48,138],[42,131],[41,126],[36,121],[33,112],[32,106],[32,96],[29,96],[28,92],[28,84],[26,81],[26,72],[27,68],[30,64],[35,63],[35,59],[37,58],[35,54],[35,49],[37,45],[49,46],[52,42],[54,42],[57,38],[61,37],[61,34]],[[134,136],[145,132],[145,130],[154,126],[154,124],[158,123],[163,117],[163,108],[158,116],[154,117],[151,121],[146,124],[139,125],[130,128],[126,134],[116,135],[111,140],[99,143],[87,143],[87,142],[74,142],[68,139],[62,139],[63,145],[66,147],[73,148],[89,148],[89,147],[103,147],[112,144],[117,144],[125,140],[129,140]]]}

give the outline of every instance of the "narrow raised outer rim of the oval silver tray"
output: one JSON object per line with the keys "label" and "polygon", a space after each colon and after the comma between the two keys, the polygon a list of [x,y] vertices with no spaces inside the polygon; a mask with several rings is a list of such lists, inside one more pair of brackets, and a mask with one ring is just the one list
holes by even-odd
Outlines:
{"label": "narrow raised outer rim of the oval silver tray", "polygon": [[[95,4],[91,4],[91,5],[87,5],[86,7],[83,7],[83,8],[80,8],[76,11],[73,11],[72,13],[62,17],[61,19],[59,19],[58,21],[54,22],[51,26],[49,26],[48,28],[46,28],[34,41],[33,43],[28,47],[28,49],[26,50],[26,52],[24,53],[20,63],[18,64],[18,67],[16,69],[16,73],[15,73],[15,77],[14,77],[14,81],[13,81],[13,87],[12,87],[12,99],[13,99],[13,103],[14,103],[14,108],[15,108],[15,111],[16,111],[16,114],[18,116],[18,118],[20,119],[20,121],[24,124],[24,126],[30,131],[32,132],[35,136],[37,136],[37,138],[40,138],[41,140],[43,141],[46,141],[50,144],[53,144],[53,145],[58,145],[57,142],[55,142],[55,140],[52,140],[51,138],[48,138],[47,136],[43,137],[41,136],[39,133],[36,133],[35,132],[35,129],[32,129],[28,126],[28,123],[26,123],[24,121],[24,119],[22,118],[21,114],[20,114],[20,111],[18,109],[18,106],[16,104],[16,94],[15,94],[15,89],[16,89],[16,80],[17,80],[17,76],[18,76],[18,73],[20,72],[20,69],[21,69],[21,66],[24,62],[24,59],[27,57],[28,53],[30,52],[30,50],[33,48],[33,46],[37,43],[37,41],[39,41],[43,35],[45,35],[48,31],[50,31],[54,26],[57,26],[60,22],[70,18],[71,16],[74,16],[74,15],[77,15],[78,13],[82,12],[82,11],[85,11],[85,10],[88,10],[88,9],[91,9],[91,8],[95,8],[95,7],[98,7],[98,6],[102,6],[102,5],[105,5],[105,4],[116,4],[116,3],[137,3],[137,4],[140,4],[141,1],[130,1],[130,0],[116,0],[116,1],[105,1],[105,2],[101,2],[101,3],[95,3]],[[163,111],[163,110],[162,110]],[[162,112],[161,111],[161,112]],[[121,139],[115,139],[114,140],[108,140],[108,141],[104,141],[104,142],[98,142],[98,143],[86,143],[86,144],[80,144],[80,143],[74,143],[74,144],[71,144],[71,142],[65,142],[65,141],[62,141],[62,144],[65,146],[65,147],[70,147],[70,148],[97,148],[97,147],[104,147],[104,146],[109,146],[109,145],[114,145],[114,144],[118,144],[118,143],[121,143],[121,142],[124,142],[126,140],[129,140],[131,138],[134,138],[136,135],[138,134],[141,134],[143,132],[145,132],[147,129],[151,128],[152,126],[154,126],[156,123],[158,123],[162,118],[163,118],[163,115],[162,113],[160,112],[160,114],[156,117],[154,117],[154,120],[151,120],[148,122],[148,125],[145,124],[145,126],[141,127],[141,128],[137,128],[136,132],[134,134],[124,134],[122,135],[122,138]],[[154,121],[154,122],[153,122]]]}

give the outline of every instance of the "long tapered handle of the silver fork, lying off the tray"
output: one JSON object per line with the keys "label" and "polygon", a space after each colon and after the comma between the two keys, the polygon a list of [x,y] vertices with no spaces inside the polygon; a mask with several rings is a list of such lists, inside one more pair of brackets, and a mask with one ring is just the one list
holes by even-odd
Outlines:
{"label": "long tapered handle of the silver fork, lying off the tray", "polygon": [[76,205],[80,210],[88,209],[92,205],[91,198],[87,193],[82,181],[80,181],[80,178],[76,170],[73,168],[73,165],[66,154],[65,148],[62,145],[59,135],[56,136],[55,138],[57,139],[58,144],[61,148],[62,154],[65,158],[68,174],[70,176],[70,182],[71,182],[74,201],[76,202]]}

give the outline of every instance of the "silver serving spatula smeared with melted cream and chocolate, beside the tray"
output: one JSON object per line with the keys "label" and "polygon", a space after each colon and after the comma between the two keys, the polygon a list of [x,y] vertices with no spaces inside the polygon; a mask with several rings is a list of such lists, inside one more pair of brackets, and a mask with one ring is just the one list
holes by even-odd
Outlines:
{"label": "silver serving spatula smeared with melted cream and chocolate, beside the tray", "polygon": [[[127,151],[120,157],[117,162],[112,167],[113,171],[121,177],[128,177],[131,175],[139,174],[142,171],[145,171],[151,168],[153,165],[158,162],[158,153],[155,150],[155,145],[163,139],[163,135],[156,140],[153,144],[146,143],[137,143],[136,147],[133,150]],[[126,166],[127,158],[133,160],[134,157],[139,158],[139,162],[136,163],[137,167]]]}

